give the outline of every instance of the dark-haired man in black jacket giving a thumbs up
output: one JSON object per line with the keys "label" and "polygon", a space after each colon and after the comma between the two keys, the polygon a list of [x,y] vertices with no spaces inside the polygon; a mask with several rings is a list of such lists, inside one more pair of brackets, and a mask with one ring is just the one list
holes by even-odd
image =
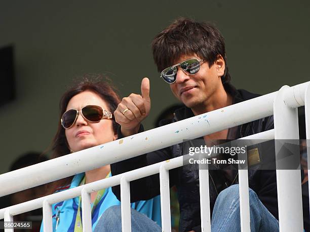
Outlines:
{"label": "dark-haired man in black jacket giving a thumbs up", "polygon": [[[186,107],[175,111],[170,122],[193,117],[259,95],[236,90],[230,83],[224,39],[209,23],[179,18],[160,32],[152,42],[154,61],[172,93]],[[141,122],[150,111],[149,80],[141,83],[141,95],[123,98],[114,112],[121,125],[119,138],[143,131]],[[203,137],[208,142],[237,139],[273,128],[273,117]],[[117,175],[146,165],[182,156],[182,144],[111,165]],[[201,231],[199,175],[185,166],[170,171],[170,184],[176,185],[180,203],[180,231]],[[240,231],[239,187],[237,170],[210,170],[212,231]],[[277,184],[275,170],[249,170],[251,231],[278,231]],[[143,189],[143,190],[142,190]],[[113,188],[120,199],[120,186]],[[159,175],[131,182],[131,201],[150,199],[160,194]],[[110,216],[117,211],[109,211]],[[133,218],[136,217],[134,213]],[[139,216],[138,216],[139,217]],[[111,217],[109,218],[110,220]],[[144,219],[133,219],[142,223]],[[144,225],[147,222],[143,221]]]}

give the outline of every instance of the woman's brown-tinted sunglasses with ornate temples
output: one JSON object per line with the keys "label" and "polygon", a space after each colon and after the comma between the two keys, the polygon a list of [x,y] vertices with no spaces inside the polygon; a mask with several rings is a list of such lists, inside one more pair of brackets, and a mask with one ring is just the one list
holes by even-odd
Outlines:
{"label": "woman's brown-tinted sunglasses with ornate temples", "polygon": [[69,109],[62,114],[61,125],[64,129],[71,128],[76,119],[79,117],[79,112],[81,112],[84,119],[92,123],[98,123],[105,117],[107,119],[112,119],[112,113],[103,109],[98,105],[86,105],[81,110]]}

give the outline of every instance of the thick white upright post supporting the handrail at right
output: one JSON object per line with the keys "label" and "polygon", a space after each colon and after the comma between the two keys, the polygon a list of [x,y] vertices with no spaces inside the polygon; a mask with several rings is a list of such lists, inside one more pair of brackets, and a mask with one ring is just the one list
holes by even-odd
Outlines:
{"label": "thick white upright post supporting the handrail at right", "polygon": [[[274,101],[274,123],[276,139],[276,167],[280,231],[303,231],[301,176],[300,169],[284,170],[280,150],[285,148],[280,139],[299,139],[297,108],[290,108],[284,101],[285,90],[282,87]],[[277,141],[278,140],[278,141]],[[299,146],[298,146],[299,148]],[[298,160],[297,160],[298,159]],[[291,159],[298,164],[299,156]]]}

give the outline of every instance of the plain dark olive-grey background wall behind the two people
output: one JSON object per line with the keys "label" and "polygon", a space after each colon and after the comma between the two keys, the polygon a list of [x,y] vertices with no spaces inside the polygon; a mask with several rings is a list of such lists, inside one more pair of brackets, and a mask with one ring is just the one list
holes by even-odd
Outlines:
{"label": "plain dark olive-grey background wall behind the two people", "polygon": [[[175,103],[159,78],[152,38],[176,17],[212,21],[226,41],[237,88],[266,94],[309,81],[309,1],[10,1],[0,3],[0,48],[14,45],[16,99],[0,107],[0,173],[46,149],[60,96],[75,76],[103,72],[122,96],[150,78],[147,129]],[[3,76],[0,76],[0,79]]]}

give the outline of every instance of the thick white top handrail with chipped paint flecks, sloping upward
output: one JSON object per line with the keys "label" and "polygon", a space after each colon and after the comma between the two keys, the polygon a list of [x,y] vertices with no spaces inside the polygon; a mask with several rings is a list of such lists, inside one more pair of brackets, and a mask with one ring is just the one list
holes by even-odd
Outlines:
{"label": "thick white top handrail with chipped paint flecks, sloping upward", "polygon": [[[0,185],[2,186],[0,197],[133,158],[143,153],[180,143],[185,139],[198,138],[267,117],[273,114],[273,101],[276,94],[277,92],[266,94],[196,117],[2,174],[0,175]],[[294,95],[291,97],[294,98]],[[162,136],[163,134],[165,136]],[[93,162],[94,160],[96,162]],[[12,185],[12,182],[15,184]]]}

